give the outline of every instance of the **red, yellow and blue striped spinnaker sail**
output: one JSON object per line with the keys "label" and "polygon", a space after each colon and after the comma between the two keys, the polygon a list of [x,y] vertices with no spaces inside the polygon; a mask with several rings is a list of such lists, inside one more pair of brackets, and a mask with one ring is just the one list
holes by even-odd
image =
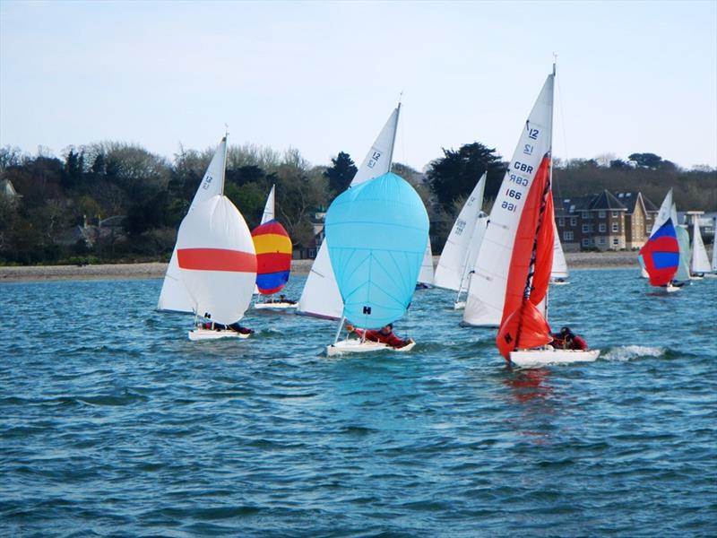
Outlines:
{"label": "red, yellow and blue striped spinnaker sail", "polygon": [[[272,189],[273,192],[273,189]],[[252,231],[256,251],[256,289],[277,293],[289,282],[291,239],[278,221],[267,221]]]}

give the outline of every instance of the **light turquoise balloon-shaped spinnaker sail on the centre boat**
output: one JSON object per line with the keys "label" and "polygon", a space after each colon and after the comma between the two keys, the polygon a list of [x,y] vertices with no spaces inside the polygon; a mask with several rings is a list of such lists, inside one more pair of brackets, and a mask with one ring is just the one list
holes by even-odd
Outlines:
{"label": "light turquoise balloon-shaped spinnaker sail on the centre boat", "polygon": [[418,193],[392,173],[352,187],[326,213],[326,244],[343,316],[366,328],[402,317],[428,240]]}

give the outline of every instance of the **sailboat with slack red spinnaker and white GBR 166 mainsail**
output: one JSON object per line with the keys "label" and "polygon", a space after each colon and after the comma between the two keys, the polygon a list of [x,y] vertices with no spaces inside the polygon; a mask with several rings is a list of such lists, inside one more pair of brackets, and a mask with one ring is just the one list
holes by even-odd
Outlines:
{"label": "sailboat with slack red spinnaker and white GBR 166 mainsail", "polygon": [[[505,360],[517,366],[595,360],[600,354],[599,350],[557,350],[547,345],[553,340],[547,296],[555,245],[550,190],[554,83],[555,68],[525,123],[480,248],[479,261],[487,247],[497,248],[495,252],[505,256],[499,260],[505,266],[504,281],[497,282],[495,265],[490,273],[486,265],[476,270],[483,278],[491,277],[490,287],[500,284],[504,292],[496,344]],[[491,231],[494,229],[499,234]],[[495,303],[488,306],[496,307]],[[468,310],[466,306],[466,313]]]}

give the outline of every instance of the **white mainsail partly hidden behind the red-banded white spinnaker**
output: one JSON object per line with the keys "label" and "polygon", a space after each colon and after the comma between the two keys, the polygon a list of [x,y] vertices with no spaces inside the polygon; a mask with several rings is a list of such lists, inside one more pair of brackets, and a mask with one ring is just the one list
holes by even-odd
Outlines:
{"label": "white mainsail partly hidden behind the red-banded white spinnaker", "polygon": [[[227,159],[227,137],[221,139],[217,151],[214,152],[212,161],[209,163],[202,183],[194,194],[192,204],[187,214],[191,213],[196,204],[209,200],[212,196],[220,195],[224,191],[224,167]],[[170,310],[175,312],[192,312],[192,299],[189,297],[184,284],[179,278],[179,265],[177,264],[177,245],[169,258],[167,273],[164,276],[160,299],[157,302],[158,310]]]}

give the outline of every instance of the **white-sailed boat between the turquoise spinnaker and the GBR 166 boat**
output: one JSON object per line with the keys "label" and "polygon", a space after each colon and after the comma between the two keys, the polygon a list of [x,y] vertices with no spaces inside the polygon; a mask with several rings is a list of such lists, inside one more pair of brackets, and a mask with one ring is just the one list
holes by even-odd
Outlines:
{"label": "white-sailed boat between the turquoise spinnaker and the GBR 166 boat", "polygon": [[468,291],[476,256],[488,226],[488,215],[481,211],[486,177],[486,173],[480,177],[463,204],[436,267],[436,286],[458,292],[455,309],[465,308],[462,295]]}

